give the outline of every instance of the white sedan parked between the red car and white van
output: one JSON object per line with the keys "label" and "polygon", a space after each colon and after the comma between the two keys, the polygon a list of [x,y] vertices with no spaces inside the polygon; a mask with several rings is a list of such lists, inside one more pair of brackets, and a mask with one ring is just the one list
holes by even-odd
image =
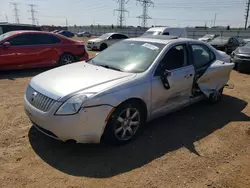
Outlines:
{"label": "white sedan parked between the red car and white van", "polygon": [[121,33],[106,33],[98,38],[90,39],[87,42],[87,48],[90,50],[105,50],[112,44],[127,38],[127,35]]}

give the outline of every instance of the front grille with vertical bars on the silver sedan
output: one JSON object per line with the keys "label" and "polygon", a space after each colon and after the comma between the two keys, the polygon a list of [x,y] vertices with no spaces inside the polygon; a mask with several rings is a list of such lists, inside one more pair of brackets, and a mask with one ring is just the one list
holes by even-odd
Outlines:
{"label": "front grille with vertical bars on the silver sedan", "polygon": [[26,99],[32,106],[43,112],[48,112],[56,102],[54,99],[51,99],[39,93],[38,91],[33,89],[30,85],[27,87],[26,90]]}

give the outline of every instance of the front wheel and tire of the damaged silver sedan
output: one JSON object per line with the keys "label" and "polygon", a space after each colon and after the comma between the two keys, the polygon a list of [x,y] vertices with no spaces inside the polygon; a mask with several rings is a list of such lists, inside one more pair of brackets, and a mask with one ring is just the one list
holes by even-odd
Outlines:
{"label": "front wheel and tire of the damaged silver sedan", "polygon": [[[130,119],[126,118],[128,109],[130,109]],[[133,118],[135,113],[138,113],[138,116],[135,116],[135,118]],[[146,113],[139,103],[128,102],[121,104],[120,106],[118,106],[118,108],[115,109],[107,122],[103,134],[104,142],[107,142],[111,145],[127,144],[138,136],[142,125],[145,123],[145,120]],[[136,124],[137,122],[139,123]],[[134,125],[132,125],[132,123]]]}

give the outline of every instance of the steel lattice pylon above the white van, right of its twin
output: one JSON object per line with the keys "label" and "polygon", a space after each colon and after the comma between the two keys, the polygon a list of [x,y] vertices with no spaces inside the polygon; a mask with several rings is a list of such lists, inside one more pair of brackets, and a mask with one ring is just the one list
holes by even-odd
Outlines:
{"label": "steel lattice pylon above the white van, right of its twin", "polygon": [[151,0],[136,0],[136,1],[141,3],[142,6],[142,15],[138,16],[137,18],[142,19],[141,26],[145,28],[148,25],[147,20],[152,19],[148,15],[148,7],[154,5],[154,3]]}

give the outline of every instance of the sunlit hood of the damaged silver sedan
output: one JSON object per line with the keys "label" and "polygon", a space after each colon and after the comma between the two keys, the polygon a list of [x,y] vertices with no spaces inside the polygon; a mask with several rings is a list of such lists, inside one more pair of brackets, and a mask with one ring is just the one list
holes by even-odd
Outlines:
{"label": "sunlit hood of the damaged silver sedan", "polygon": [[59,100],[75,92],[98,93],[135,76],[135,73],[78,62],[41,73],[31,80],[30,85],[38,92]]}

